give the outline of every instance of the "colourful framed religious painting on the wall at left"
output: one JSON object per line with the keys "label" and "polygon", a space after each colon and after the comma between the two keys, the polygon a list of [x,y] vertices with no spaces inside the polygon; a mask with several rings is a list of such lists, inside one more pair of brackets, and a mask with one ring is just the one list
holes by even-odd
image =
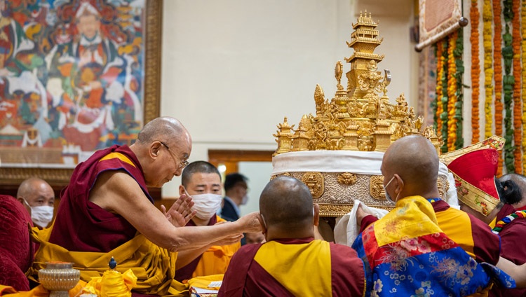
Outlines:
{"label": "colourful framed religious painting on the wall at left", "polygon": [[161,0],[0,0],[0,184],[65,184],[159,116]]}

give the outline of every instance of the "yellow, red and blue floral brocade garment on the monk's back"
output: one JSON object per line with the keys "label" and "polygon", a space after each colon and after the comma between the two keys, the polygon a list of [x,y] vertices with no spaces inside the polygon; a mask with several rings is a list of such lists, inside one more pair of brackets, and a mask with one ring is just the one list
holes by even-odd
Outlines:
{"label": "yellow, red and blue floral brocade garment on the monk's back", "polygon": [[363,230],[353,248],[365,263],[367,296],[468,296],[492,281],[515,287],[506,273],[477,263],[450,240],[431,203],[420,196],[398,200],[395,209]]}

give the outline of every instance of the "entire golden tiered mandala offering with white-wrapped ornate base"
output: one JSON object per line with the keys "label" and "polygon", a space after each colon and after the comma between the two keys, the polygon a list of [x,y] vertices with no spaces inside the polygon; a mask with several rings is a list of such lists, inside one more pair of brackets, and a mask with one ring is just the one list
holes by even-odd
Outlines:
{"label": "entire golden tiered mandala offering with white-wrapped ornate base", "polygon": [[[335,96],[326,99],[321,86],[316,85],[316,116],[302,116],[296,129],[285,117],[274,134],[278,148],[272,158],[272,178],[288,175],[303,181],[320,205],[322,216],[343,216],[355,199],[391,209],[380,172],[386,149],[396,139],[411,134],[429,139],[437,153],[442,145],[433,127],[422,129],[422,116],[415,116],[403,94],[396,98],[396,104],[389,102],[391,74],[389,70],[384,74],[378,71],[377,64],[384,55],[374,53],[383,40],[378,39],[377,25],[367,12],[360,13],[352,25],[347,46],[354,53],[345,58],[351,64],[346,88],[342,85],[344,67],[338,61]],[[447,167],[440,163],[438,188],[445,200],[447,191],[454,193],[453,180],[450,177],[448,181],[448,176]]]}

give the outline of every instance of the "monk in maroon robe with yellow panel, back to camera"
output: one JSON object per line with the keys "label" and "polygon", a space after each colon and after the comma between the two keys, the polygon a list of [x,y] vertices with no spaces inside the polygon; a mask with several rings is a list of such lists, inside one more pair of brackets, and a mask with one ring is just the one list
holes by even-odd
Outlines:
{"label": "monk in maroon robe with yellow panel, back to camera", "polygon": [[319,207],[309,188],[277,177],[259,198],[264,244],[232,258],[218,296],[363,296],[363,262],[350,247],[315,240]]}

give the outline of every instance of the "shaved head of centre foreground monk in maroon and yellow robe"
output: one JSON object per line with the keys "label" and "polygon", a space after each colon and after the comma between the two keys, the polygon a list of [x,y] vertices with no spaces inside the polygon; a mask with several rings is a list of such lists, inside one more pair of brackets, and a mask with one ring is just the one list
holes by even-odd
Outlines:
{"label": "shaved head of centre foreground monk in maroon and yellow robe", "polygon": [[267,226],[290,230],[312,227],[312,195],[309,188],[293,177],[276,177],[259,198],[259,212]]}

